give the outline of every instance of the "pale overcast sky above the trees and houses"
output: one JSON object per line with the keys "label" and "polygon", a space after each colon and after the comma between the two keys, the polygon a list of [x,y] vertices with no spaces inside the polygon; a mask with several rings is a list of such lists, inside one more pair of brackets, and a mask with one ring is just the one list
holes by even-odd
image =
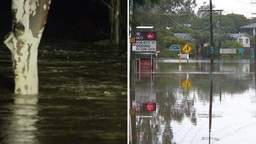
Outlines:
{"label": "pale overcast sky above the trees and houses", "polygon": [[[203,2],[207,4],[210,3],[210,0],[196,0],[197,7],[194,9],[197,12],[198,7],[204,5]],[[212,0],[212,4],[215,5],[216,10],[224,10],[223,14],[236,13],[242,14],[246,18],[256,17],[256,0]]]}

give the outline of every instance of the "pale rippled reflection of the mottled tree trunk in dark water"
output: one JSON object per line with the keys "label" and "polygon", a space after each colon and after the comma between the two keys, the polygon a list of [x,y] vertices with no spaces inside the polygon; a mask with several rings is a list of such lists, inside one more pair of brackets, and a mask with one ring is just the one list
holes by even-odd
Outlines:
{"label": "pale rippled reflection of the mottled tree trunk in dark water", "polygon": [[35,127],[38,120],[37,95],[15,95],[13,113],[7,128],[7,143],[38,143]]}

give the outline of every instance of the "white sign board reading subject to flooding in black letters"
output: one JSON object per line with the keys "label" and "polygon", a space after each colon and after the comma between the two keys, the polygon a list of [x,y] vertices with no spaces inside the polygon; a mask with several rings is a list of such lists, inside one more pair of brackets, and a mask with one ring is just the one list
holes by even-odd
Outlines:
{"label": "white sign board reading subject to flooding in black letters", "polygon": [[137,52],[155,52],[156,41],[140,41],[136,40],[136,51]]}

